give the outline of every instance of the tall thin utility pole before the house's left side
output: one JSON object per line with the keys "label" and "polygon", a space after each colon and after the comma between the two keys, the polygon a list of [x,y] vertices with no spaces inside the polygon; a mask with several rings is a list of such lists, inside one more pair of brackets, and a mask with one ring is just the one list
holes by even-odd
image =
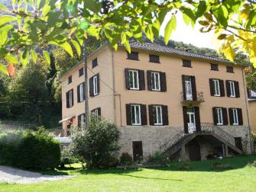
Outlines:
{"label": "tall thin utility pole before the house's left side", "polygon": [[86,39],[83,41],[83,62],[85,68],[85,126],[89,126],[89,102],[88,102],[88,72],[87,72],[87,54],[86,54]]}

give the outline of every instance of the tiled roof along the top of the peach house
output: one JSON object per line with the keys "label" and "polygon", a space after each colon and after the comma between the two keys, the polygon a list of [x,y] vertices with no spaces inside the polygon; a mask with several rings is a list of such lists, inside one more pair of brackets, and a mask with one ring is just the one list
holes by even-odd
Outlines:
{"label": "tiled roof along the top of the peach house", "polygon": [[[123,45],[119,45],[119,46],[123,46]],[[158,53],[169,53],[171,55],[187,56],[187,57],[191,57],[191,58],[195,58],[195,59],[206,59],[206,60],[209,60],[212,62],[225,62],[228,64],[234,64],[234,62],[231,62],[227,59],[221,59],[218,57],[205,56],[202,54],[196,54],[196,53],[191,53],[191,52],[187,52],[187,51],[183,51],[183,50],[177,50],[177,49],[173,49],[168,46],[161,46],[161,45],[158,45],[155,43],[139,43],[136,41],[132,41],[132,42],[130,42],[130,46],[131,46],[131,48],[139,49],[139,50],[150,50],[150,51],[154,51],[154,52],[158,52]]]}

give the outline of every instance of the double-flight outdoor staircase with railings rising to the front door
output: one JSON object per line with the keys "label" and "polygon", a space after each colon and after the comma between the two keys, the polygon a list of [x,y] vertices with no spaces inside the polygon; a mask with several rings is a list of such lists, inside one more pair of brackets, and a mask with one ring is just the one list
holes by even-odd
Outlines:
{"label": "double-flight outdoor staircase with railings rising to the front door", "polygon": [[173,136],[170,141],[165,142],[164,145],[160,146],[160,151],[167,152],[169,155],[173,155],[175,152],[181,149],[183,145],[190,142],[196,136],[214,136],[219,139],[222,143],[225,143],[228,147],[242,154],[241,149],[235,146],[235,138],[222,130],[219,126],[215,126],[212,123],[201,123],[201,131],[194,133],[184,133],[183,130],[179,130],[175,136]]}

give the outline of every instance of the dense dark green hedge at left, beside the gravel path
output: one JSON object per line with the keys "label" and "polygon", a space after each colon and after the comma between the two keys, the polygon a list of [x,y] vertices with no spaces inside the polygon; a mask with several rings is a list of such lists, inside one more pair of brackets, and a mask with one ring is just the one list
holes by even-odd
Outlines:
{"label": "dense dark green hedge at left, beside the gravel path", "polygon": [[0,154],[1,165],[39,170],[60,165],[60,143],[42,129],[2,134]]}

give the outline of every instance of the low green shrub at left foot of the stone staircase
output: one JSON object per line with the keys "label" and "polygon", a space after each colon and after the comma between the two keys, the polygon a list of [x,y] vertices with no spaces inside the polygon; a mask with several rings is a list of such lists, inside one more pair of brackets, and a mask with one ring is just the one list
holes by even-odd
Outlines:
{"label": "low green shrub at left foot of the stone staircase", "polygon": [[149,155],[146,160],[147,165],[166,166],[169,163],[170,163],[169,155],[163,152],[155,152],[153,155]]}

